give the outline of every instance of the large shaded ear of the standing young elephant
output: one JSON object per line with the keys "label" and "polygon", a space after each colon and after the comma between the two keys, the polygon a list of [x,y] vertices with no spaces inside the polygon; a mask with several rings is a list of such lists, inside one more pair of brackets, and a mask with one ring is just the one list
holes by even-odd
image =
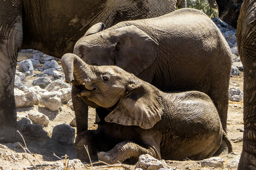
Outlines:
{"label": "large shaded ear of the standing young elephant", "polygon": [[114,64],[134,75],[139,75],[155,60],[158,43],[141,29],[130,25],[113,30]]}

